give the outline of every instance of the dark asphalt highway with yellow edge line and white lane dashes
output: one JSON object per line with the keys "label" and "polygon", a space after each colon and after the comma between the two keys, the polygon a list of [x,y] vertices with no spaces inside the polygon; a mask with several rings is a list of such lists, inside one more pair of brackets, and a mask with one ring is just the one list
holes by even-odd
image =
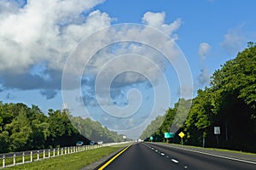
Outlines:
{"label": "dark asphalt highway with yellow edge line and white lane dashes", "polygon": [[255,161],[196,153],[160,144],[135,143],[96,169],[230,169],[255,170]]}

